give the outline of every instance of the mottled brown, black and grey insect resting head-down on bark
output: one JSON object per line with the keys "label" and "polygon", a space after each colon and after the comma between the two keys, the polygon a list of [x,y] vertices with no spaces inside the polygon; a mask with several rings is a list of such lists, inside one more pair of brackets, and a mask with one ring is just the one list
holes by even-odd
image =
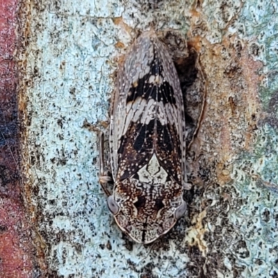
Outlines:
{"label": "mottled brown, black and grey insect resting head-down on bark", "polygon": [[107,201],[117,225],[137,243],[152,243],[186,212],[185,131],[167,47],[154,31],[142,33],[117,75],[110,124],[114,188]]}

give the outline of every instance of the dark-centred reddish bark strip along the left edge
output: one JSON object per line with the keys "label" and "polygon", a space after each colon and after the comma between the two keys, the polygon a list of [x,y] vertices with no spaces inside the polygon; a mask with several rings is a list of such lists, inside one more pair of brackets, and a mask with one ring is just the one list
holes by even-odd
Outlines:
{"label": "dark-centred reddish bark strip along the left edge", "polygon": [[16,27],[19,1],[0,1],[0,277],[31,277],[33,247],[21,195]]}

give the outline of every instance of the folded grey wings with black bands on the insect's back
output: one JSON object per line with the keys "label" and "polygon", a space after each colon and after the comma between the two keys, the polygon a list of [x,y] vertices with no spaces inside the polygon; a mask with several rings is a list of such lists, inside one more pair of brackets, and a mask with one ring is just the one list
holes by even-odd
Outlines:
{"label": "folded grey wings with black bands on the insect's back", "polygon": [[[158,76],[157,80],[154,76]],[[181,148],[179,154],[174,156],[180,156],[183,169],[186,154],[185,121],[179,79],[165,45],[152,31],[141,35],[131,47],[124,65],[119,70],[117,87],[118,97],[113,105],[111,121],[114,179],[117,177],[120,161],[124,160],[125,155],[129,155],[126,154],[127,142],[137,147],[138,151],[145,150],[141,155],[140,152],[136,152],[136,149],[131,153],[134,161],[139,159],[137,161],[139,167],[140,162],[147,158],[144,155],[151,147],[149,144],[158,148],[161,160],[167,159],[170,147],[171,149]],[[149,125],[148,130],[146,130],[147,125]],[[131,131],[134,129],[137,129],[137,132]],[[149,133],[151,130],[153,143],[147,137],[151,135]],[[156,136],[157,133],[159,136]],[[177,138],[172,138],[174,134]],[[157,143],[154,142],[156,138]],[[175,147],[173,147],[174,143],[176,143]],[[168,166],[169,171],[172,172],[169,164]],[[172,169],[176,167],[177,164],[174,163]],[[138,166],[133,168],[133,172],[136,170]]]}

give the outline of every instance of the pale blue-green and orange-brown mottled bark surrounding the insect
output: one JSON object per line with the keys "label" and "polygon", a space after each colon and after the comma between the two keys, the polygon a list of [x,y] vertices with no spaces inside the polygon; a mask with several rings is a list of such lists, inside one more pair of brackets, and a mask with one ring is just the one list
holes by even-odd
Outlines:
{"label": "pale blue-green and orange-brown mottled bark surrounding the insect", "polygon": [[[277,5],[22,3],[22,169],[42,277],[278,277]],[[177,38],[184,55],[195,49],[202,79],[186,92],[205,105],[188,149],[188,215],[139,245],[108,211],[97,136],[83,122],[108,120],[120,57],[151,26],[177,67]]]}

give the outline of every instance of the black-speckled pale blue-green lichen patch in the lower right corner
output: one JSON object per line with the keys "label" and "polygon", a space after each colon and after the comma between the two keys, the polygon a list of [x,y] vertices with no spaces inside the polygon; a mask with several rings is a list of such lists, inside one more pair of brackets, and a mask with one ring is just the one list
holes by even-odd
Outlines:
{"label": "black-speckled pale blue-green lichen patch in the lower right corner", "polygon": [[[257,132],[254,152],[234,164],[237,190],[229,220],[244,235],[238,265],[244,277],[275,277],[278,273],[278,133],[265,124]],[[252,267],[251,267],[252,265]],[[276,273],[276,274],[275,274]]]}

